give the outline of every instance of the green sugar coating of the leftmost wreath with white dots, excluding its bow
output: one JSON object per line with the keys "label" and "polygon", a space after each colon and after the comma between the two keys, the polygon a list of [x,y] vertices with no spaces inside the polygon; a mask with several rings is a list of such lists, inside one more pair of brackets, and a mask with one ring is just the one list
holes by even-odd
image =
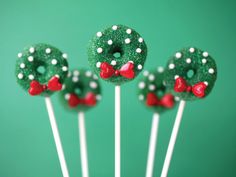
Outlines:
{"label": "green sugar coating of the leftmost wreath with white dots, excluding its bow", "polygon": [[[66,54],[48,44],[35,44],[26,47],[18,54],[15,75],[17,82],[28,92],[31,81],[47,84],[55,75],[63,83],[68,73]],[[45,90],[41,96],[51,95]]]}

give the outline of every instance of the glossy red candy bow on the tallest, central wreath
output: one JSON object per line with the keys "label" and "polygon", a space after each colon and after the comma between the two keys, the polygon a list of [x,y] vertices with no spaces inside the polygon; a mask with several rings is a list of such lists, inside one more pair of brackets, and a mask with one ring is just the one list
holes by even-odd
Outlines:
{"label": "glossy red candy bow on the tallest, central wreath", "polygon": [[133,68],[134,68],[134,64],[131,62],[127,62],[119,70],[115,70],[109,63],[103,62],[101,63],[101,67],[100,67],[101,69],[100,76],[103,79],[108,79],[112,77],[113,75],[116,75],[116,76],[121,75],[125,78],[133,79],[135,76]]}

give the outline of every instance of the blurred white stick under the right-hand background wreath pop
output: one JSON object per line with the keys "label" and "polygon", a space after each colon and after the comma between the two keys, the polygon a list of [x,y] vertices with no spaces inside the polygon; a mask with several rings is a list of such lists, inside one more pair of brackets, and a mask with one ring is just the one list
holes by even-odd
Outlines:
{"label": "blurred white stick under the right-hand background wreath pop", "polygon": [[152,129],[149,141],[146,177],[152,177],[153,174],[159,120],[160,115],[158,113],[154,113],[152,118]]}

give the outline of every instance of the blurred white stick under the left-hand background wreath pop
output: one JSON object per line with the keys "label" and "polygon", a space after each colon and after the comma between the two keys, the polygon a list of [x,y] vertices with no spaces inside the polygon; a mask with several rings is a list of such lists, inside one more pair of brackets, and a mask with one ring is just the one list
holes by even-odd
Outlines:
{"label": "blurred white stick under the left-hand background wreath pop", "polygon": [[78,126],[79,126],[82,176],[89,177],[87,143],[86,143],[86,128],[85,128],[85,120],[84,120],[84,113],[83,112],[78,113],[78,124],[79,124]]}

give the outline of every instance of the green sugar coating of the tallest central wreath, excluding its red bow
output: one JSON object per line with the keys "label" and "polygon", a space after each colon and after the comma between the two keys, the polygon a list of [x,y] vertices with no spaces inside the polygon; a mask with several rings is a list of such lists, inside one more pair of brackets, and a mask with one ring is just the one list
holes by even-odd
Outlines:
{"label": "green sugar coating of the tallest central wreath, excluding its red bow", "polygon": [[[124,64],[132,61],[136,77],[144,67],[146,56],[147,46],[143,38],[134,29],[124,25],[113,25],[97,32],[88,46],[88,61],[98,76],[102,62],[107,62],[113,65],[115,70],[119,70]],[[120,85],[133,79],[112,76],[104,80]]]}

